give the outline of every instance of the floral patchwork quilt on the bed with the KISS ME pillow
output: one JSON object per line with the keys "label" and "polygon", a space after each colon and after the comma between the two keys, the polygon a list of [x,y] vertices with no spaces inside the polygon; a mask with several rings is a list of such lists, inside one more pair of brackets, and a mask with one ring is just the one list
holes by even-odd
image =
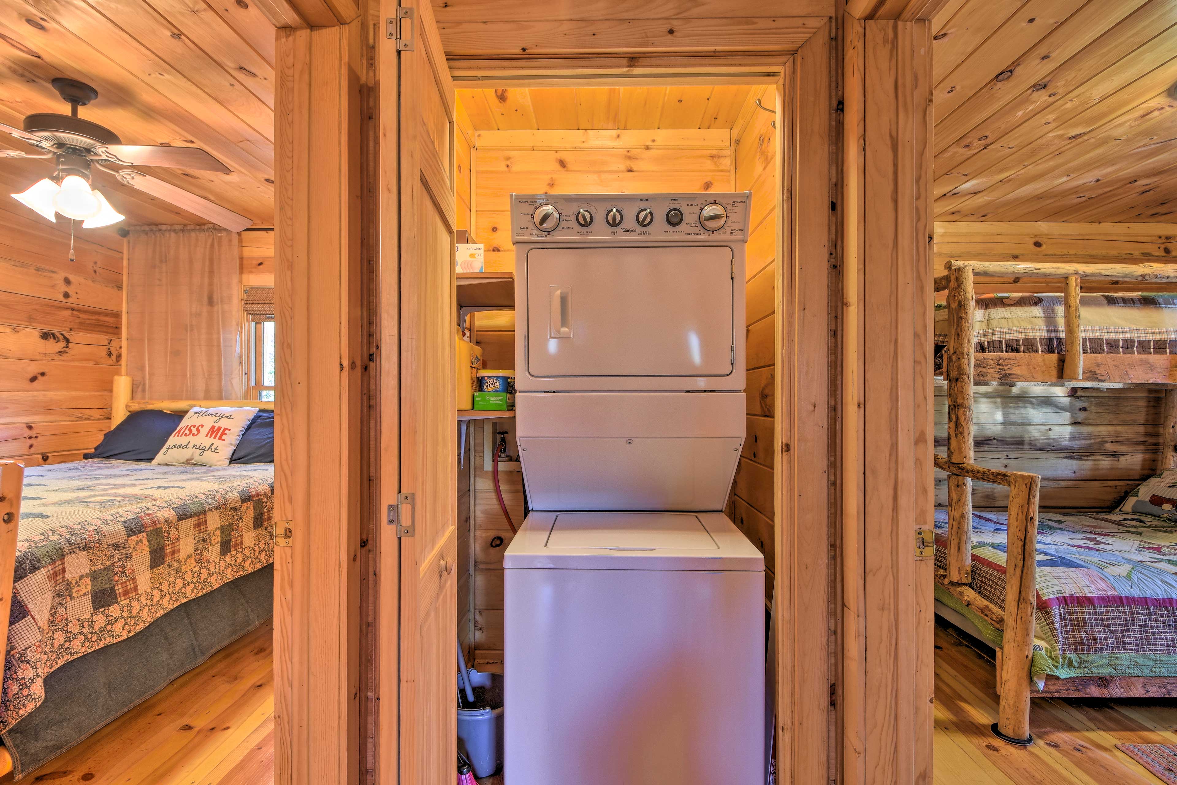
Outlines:
{"label": "floral patchwork quilt on the bed with the KISS ME pillow", "polygon": [[273,464],[25,471],[0,732],[45,677],[273,561]]}

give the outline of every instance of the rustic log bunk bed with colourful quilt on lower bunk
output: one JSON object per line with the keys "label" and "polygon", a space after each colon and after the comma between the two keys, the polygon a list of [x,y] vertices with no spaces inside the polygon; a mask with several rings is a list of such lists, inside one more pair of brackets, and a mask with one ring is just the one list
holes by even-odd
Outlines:
{"label": "rustic log bunk bed with colourful quilt on lower bunk", "polygon": [[[936,467],[947,474],[947,510],[938,511],[935,535],[937,612],[946,606],[944,614],[950,620],[959,619],[997,650],[999,709],[993,733],[1013,744],[1030,744],[1030,698],[1035,693],[1177,697],[1177,651],[1171,643],[1177,631],[1173,616],[1177,614],[1177,520],[1116,511],[1077,511],[1040,518],[1037,474],[973,463],[973,385],[1139,385],[1168,388],[1158,471],[1177,466],[1177,391],[1173,390],[1177,353],[1169,354],[1168,344],[1161,345],[1161,351],[1149,346],[1148,341],[1158,331],[1136,331],[1143,338],[1133,344],[1137,337],[1129,327],[1109,334],[1129,337],[1117,340],[1131,344],[1128,351],[1139,348],[1142,353],[1084,355],[1080,332],[1083,281],[1124,281],[1144,287],[1173,284],[1177,265],[950,261],[946,268],[944,275],[936,278],[935,287],[947,293],[946,346],[942,355],[947,387],[947,454],[935,457]],[[1011,340],[1009,351],[1003,351],[1006,347],[996,341],[996,346],[978,353],[973,279],[980,277],[1015,281],[1063,278],[1063,351],[1026,351]],[[1031,330],[1026,334],[1043,335],[1045,331]],[[1057,338],[1053,342],[1058,342]],[[1093,344],[1089,340],[1089,345]],[[1110,351],[1124,351],[1124,345],[1117,344]],[[1053,348],[1051,344],[1038,346]],[[973,512],[973,480],[1009,488],[1004,515]],[[975,534],[979,544],[975,543]],[[983,556],[975,563],[978,545],[991,558]],[[1088,553],[1096,558],[1085,558]],[[1137,573],[1151,576],[1144,591],[1132,586],[1130,578],[1125,579]],[[1125,608],[1135,618],[1128,621],[1117,618]],[[1157,618],[1150,620],[1150,616]],[[1040,628],[1036,621],[1042,624]],[[1125,638],[1133,638],[1133,646],[1148,651],[1119,652],[1118,659],[1109,656],[1110,661],[1121,665],[1118,668],[1092,666],[1095,660],[1106,666],[1109,657],[1089,660],[1071,657],[1069,667],[1055,667],[1055,673],[1044,667],[1043,639],[1058,644],[1064,638],[1086,641],[1100,636],[1108,638],[1112,637],[1110,623],[1117,626],[1117,646]],[[1045,631],[1043,639],[1037,636],[1039,631]],[[1125,664],[1139,663],[1146,663],[1143,670],[1149,674],[1116,672],[1131,671],[1133,667]]]}

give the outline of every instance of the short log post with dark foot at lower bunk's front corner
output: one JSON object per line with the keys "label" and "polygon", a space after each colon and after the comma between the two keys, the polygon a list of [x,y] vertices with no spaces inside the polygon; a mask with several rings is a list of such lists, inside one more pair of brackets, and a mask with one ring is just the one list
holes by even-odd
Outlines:
{"label": "short log post with dark foot at lower bunk's front corner", "polygon": [[1033,658],[1038,547],[1038,475],[1018,473],[1010,483],[1005,547],[1005,627],[1002,630],[999,737],[1029,744],[1030,663]]}

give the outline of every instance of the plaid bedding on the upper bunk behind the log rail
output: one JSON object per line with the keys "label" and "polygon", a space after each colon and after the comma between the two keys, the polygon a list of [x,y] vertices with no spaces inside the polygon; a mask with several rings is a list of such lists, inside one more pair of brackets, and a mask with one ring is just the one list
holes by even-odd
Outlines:
{"label": "plaid bedding on the upper bunk behind the log rail", "polygon": [[[936,306],[936,368],[947,345],[947,306]],[[986,294],[973,312],[973,351],[1062,354],[1059,294]],[[1084,354],[1177,354],[1177,294],[1083,294],[1079,333]]]}

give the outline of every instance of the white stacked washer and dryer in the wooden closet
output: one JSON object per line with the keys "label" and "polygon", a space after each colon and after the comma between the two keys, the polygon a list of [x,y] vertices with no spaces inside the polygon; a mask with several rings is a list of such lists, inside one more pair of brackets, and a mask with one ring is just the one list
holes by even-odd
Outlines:
{"label": "white stacked washer and dryer in the wooden closet", "polygon": [[512,194],[507,785],[764,781],[745,433],[751,194]]}

